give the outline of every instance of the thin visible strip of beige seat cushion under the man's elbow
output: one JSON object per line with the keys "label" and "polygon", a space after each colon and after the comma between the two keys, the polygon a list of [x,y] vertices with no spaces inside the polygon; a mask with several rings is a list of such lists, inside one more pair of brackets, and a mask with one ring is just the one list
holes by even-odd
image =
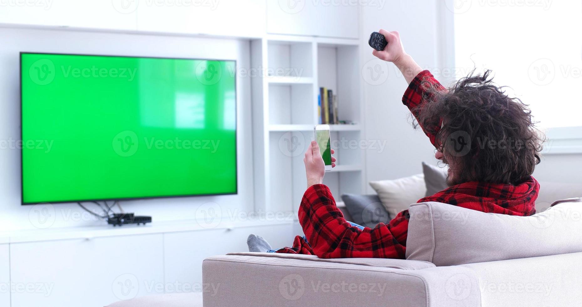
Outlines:
{"label": "thin visible strip of beige seat cushion under the man's elbow", "polygon": [[[298,254],[286,254],[286,253],[255,253],[255,252],[239,252],[239,253],[228,253],[229,256],[241,256],[243,259],[248,256],[260,256],[260,257],[270,257],[269,262],[273,262],[272,258],[281,259],[277,263],[283,264],[285,262],[290,262],[290,260],[285,259],[299,259],[299,260],[309,260],[320,262],[322,266],[336,266],[336,263],[344,264],[357,264],[360,266],[374,266],[374,267],[390,267],[392,269],[401,270],[422,270],[427,267],[434,267],[435,265],[427,261],[416,261],[416,260],[404,260],[404,259],[384,259],[384,258],[338,258],[338,259],[321,259],[315,255],[298,255]],[[230,258],[235,259],[236,258]],[[259,261],[260,259],[255,259]]]}

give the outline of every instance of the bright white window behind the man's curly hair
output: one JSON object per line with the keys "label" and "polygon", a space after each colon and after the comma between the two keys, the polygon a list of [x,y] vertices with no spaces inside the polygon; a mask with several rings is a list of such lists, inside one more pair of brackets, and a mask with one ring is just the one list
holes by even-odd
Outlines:
{"label": "bright white window behind the man's curly hair", "polygon": [[457,78],[492,69],[541,128],[582,126],[581,1],[450,1]]}

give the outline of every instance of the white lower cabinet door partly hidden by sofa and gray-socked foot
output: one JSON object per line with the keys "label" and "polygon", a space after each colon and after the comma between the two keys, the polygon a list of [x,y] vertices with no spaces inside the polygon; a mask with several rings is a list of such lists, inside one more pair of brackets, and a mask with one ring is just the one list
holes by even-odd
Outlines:
{"label": "white lower cabinet door partly hidden by sofa and gray-socked foot", "polygon": [[[193,287],[200,287],[202,283],[202,260],[210,256],[225,255],[230,252],[248,252],[247,237],[249,237],[249,234],[264,237],[274,249],[291,246],[294,238],[292,224],[165,234],[166,283],[189,284],[188,287],[192,285]],[[175,291],[191,292],[196,291],[196,289],[175,289]]]}

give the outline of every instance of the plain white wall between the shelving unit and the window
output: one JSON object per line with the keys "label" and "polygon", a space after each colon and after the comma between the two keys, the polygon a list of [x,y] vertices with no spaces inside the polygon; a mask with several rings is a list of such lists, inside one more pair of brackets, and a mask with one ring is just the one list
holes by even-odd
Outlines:
{"label": "plain white wall between the shelving unit and the window", "polygon": [[[399,31],[406,52],[420,66],[438,66],[437,14],[435,1],[391,1],[383,9],[363,6],[361,44],[368,44],[372,31]],[[436,163],[434,147],[421,130],[414,130],[408,109],[402,104],[407,88],[404,77],[392,63],[372,55],[372,48],[362,48],[365,104],[365,136],[386,142],[383,151],[366,150],[367,181],[394,179],[422,172],[421,161]],[[379,65],[379,66],[377,66]],[[376,68],[381,68],[378,76]],[[374,75],[370,75],[374,72]],[[377,79],[378,78],[378,79]],[[385,80],[382,82],[382,80]],[[373,190],[368,186],[369,193]]]}

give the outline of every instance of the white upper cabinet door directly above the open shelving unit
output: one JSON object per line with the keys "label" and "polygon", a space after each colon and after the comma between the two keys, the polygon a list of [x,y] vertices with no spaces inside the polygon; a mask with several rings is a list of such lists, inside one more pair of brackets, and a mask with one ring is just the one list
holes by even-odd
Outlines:
{"label": "white upper cabinet door directly above the open shelving unit", "polygon": [[356,3],[325,0],[267,1],[267,32],[357,38],[359,6]]}

